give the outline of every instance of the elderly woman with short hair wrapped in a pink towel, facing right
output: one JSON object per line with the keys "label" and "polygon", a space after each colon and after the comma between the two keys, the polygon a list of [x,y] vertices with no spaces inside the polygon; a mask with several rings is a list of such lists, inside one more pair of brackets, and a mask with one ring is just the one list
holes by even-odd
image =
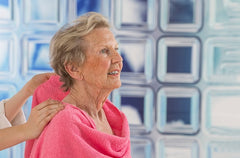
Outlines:
{"label": "elderly woman with short hair wrapped in a pink towel, facing right", "polygon": [[87,13],[55,34],[50,62],[67,92],[59,93],[65,109],[38,139],[27,143],[25,157],[131,157],[127,119],[107,99],[121,86],[117,50],[108,21],[98,13]]}

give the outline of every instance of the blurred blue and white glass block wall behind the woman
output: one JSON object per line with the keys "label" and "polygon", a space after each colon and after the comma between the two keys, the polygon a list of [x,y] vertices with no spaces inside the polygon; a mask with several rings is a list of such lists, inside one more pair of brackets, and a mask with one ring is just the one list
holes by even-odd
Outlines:
{"label": "blurred blue and white glass block wall behind the woman", "polygon": [[0,99],[52,71],[51,37],[88,11],[109,18],[120,45],[123,85],[110,99],[133,158],[240,157],[239,0],[0,0]]}

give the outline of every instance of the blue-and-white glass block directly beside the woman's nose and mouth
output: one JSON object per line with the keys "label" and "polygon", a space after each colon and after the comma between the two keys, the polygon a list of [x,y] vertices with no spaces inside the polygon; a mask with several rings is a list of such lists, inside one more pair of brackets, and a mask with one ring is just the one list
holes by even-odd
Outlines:
{"label": "blue-and-white glass block directly beside the woman's nose and mouth", "polygon": [[153,77],[153,41],[117,37],[123,58],[121,80],[124,83],[146,83]]}

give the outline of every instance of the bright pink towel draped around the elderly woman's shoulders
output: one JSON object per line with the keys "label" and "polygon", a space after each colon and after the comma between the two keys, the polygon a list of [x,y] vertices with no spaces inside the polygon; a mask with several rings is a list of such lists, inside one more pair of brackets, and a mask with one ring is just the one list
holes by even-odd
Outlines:
{"label": "bright pink towel draped around the elderly woman's shoulders", "polygon": [[[67,95],[59,89],[58,79],[54,76],[36,90],[33,107],[49,97],[62,100]],[[66,103],[39,138],[26,143],[25,158],[131,158],[125,115],[109,100],[103,110],[114,135],[98,131],[87,113]]]}

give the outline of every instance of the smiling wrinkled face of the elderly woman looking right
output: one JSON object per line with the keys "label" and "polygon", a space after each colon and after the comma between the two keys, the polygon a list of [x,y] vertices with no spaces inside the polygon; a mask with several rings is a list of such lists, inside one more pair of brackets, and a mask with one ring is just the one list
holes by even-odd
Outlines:
{"label": "smiling wrinkled face of the elderly woman looking right", "polygon": [[122,57],[118,43],[108,28],[97,28],[84,37],[87,43],[82,75],[88,85],[100,89],[119,88]]}

